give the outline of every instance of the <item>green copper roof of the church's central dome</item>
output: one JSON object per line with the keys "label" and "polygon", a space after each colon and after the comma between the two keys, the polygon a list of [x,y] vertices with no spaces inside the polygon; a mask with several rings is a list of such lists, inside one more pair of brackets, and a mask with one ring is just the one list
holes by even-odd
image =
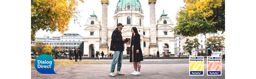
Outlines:
{"label": "green copper roof of the church's central dome", "polygon": [[119,0],[116,6],[119,7],[118,8],[119,10],[123,10],[123,8],[126,8],[125,5],[127,3],[130,3],[132,5],[130,8],[134,7],[135,10],[140,10],[141,11],[141,9],[139,9],[139,6],[141,7],[141,4],[140,4],[139,0]]}

